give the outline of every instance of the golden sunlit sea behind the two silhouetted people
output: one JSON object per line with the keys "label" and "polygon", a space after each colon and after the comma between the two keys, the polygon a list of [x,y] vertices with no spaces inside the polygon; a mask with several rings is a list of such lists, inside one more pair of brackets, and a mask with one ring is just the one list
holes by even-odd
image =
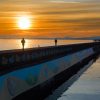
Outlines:
{"label": "golden sunlit sea behind the two silhouetted people", "polygon": [[[90,40],[58,40],[58,45],[64,44],[74,44],[74,43],[85,43],[92,42]],[[53,46],[54,40],[32,40],[26,39],[25,48],[43,47],[43,46]],[[21,39],[0,39],[0,51],[10,50],[10,49],[21,49]]]}

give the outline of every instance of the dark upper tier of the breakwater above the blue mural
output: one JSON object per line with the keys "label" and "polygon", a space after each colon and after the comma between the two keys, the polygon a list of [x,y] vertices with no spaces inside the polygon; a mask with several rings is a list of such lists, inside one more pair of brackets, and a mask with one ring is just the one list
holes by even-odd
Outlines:
{"label": "dark upper tier of the breakwater above the blue mural", "polygon": [[0,73],[39,64],[86,48],[99,48],[100,42],[50,46],[0,52]]}

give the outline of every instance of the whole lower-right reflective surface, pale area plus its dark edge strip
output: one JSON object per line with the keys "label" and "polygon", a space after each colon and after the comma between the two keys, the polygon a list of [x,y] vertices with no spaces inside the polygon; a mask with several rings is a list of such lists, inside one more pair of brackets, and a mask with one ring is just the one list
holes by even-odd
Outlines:
{"label": "whole lower-right reflective surface, pale area plus its dark edge strip", "polygon": [[46,100],[100,100],[100,58],[90,61]]}

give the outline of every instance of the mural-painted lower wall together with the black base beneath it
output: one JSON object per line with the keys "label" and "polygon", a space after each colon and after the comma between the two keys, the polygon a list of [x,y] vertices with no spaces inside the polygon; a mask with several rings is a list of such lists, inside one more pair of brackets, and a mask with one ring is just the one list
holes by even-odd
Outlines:
{"label": "mural-painted lower wall together with the black base beneath it", "polygon": [[[23,69],[21,68],[10,71],[9,73],[7,72],[6,74],[1,74],[0,100],[11,100],[13,98],[19,100],[18,98],[24,98],[26,93],[28,94],[26,97],[33,96],[33,98],[36,98],[35,96],[36,94],[40,94],[39,92],[42,93],[41,97],[39,96],[41,99],[46,94],[43,94],[43,92],[49,91],[49,89],[51,90],[52,86],[56,87],[57,84],[63,82],[66,75],[70,77],[83,64],[98,56],[100,52],[99,47],[99,44],[94,46],[89,45],[88,47],[79,49],[79,51],[69,52],[66,55],[62,53],[63,56],[56,55],[57,58],[53,56],[55,59],[52,58],[52,60],[34,64],[31,67],[23,67]],[[81,67],[78,67],[79,65],[77,67],[74,66],[79,63],[82,65]],[[39,98],[36,100],[39,100]]]}

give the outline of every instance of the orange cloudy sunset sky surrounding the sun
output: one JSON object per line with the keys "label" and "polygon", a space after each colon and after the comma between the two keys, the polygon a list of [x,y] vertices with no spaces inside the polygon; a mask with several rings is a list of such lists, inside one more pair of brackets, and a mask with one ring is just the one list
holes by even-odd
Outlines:
{"label": "orange cloudy sunset sky surrounding the sun", "polygon": [[[31,27],[18,27],[20,16]],[[100,0],[0,0],[0,38],[100,36]]]}

